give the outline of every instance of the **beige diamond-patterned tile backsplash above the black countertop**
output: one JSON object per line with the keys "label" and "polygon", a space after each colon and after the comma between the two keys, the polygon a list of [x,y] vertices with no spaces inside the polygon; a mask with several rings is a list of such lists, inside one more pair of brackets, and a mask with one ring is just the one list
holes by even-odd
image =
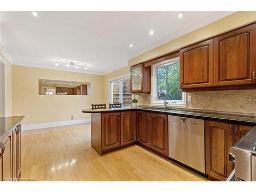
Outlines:
{"label": "beige diamond-patterned tile backsplash above the black countertop", "polygon": [[[186,109],[256,114],[256,90],[190,92],[192,101]],[[251,103],[244,103],[244,97],[251,96]],[[137,95],[139,104],[150,105],[151,94]]]}

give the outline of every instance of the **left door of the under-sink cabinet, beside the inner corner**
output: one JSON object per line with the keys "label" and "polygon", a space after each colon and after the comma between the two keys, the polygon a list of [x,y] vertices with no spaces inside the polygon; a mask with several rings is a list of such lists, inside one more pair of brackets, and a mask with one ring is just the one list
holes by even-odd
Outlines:
{"label": "left door of the under-sink cabinet, beside the inner corner", "polygon": [[137,141],[146,146],[150,146],[150,124],[149,113],[137,112]]}

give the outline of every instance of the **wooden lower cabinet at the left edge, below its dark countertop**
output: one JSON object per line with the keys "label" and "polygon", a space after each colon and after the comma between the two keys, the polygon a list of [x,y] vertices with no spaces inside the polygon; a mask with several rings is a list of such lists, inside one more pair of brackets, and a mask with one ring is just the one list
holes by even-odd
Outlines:
{"label": "wooden lower cabinet at the left edge, below its dark countertop", "polygon": [[17,181],[21,168],[21,126],[1,138],[0,181]]}

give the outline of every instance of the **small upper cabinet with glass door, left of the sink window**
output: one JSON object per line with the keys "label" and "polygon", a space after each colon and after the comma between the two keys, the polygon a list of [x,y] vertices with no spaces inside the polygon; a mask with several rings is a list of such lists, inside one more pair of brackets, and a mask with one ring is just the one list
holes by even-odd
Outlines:
{"label": "small upper cabinet with glass door, left of the sink window", "polygon": [[151,92],[151,67],[144,67],[143,63],[130,68],[131,93]]}

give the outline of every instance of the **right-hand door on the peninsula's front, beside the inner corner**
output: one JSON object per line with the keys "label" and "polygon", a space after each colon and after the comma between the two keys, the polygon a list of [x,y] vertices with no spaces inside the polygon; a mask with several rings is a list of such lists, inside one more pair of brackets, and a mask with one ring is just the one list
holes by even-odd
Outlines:
{"label": "right-hand door on the peninsula's front, beside the inner corner", "polygon": [[136,141],[136,112],[121,112],[121,145]]}

